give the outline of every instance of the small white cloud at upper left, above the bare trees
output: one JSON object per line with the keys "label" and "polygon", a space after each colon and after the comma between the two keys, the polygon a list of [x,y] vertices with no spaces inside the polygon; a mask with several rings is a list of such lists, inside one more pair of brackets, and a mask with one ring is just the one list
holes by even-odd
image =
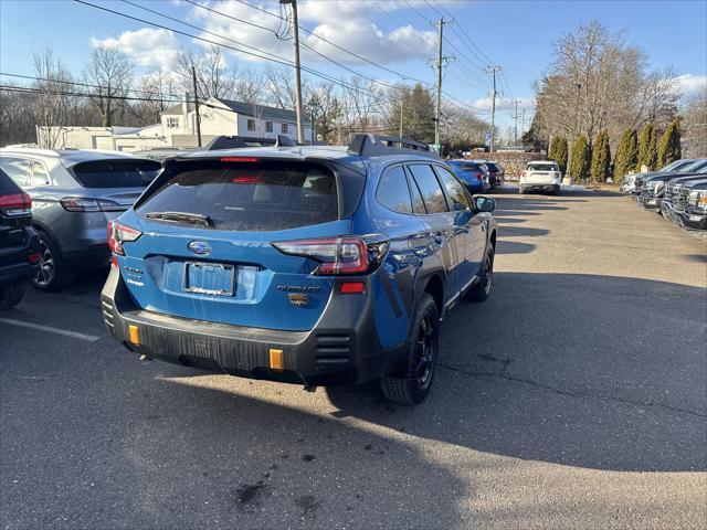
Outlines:
{"label": "small white cloud at upper left, above the bare trees", "polygon": [[117,38],[92,39],[94,47],[104,45],[125,53],[135,64],[146,67],[169,70],[179,53],[179,42],[169,30],[143,28],[125,31]]}

